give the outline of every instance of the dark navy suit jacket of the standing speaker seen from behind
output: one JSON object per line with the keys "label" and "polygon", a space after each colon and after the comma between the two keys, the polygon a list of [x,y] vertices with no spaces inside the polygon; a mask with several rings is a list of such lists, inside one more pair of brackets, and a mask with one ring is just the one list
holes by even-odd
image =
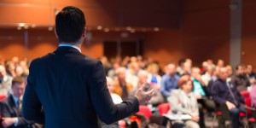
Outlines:
{"label": "dark navy suit jacket of the standing speaker seen from behind", "polygon": [[[62,46],[32,61],[22,112],[46,128],[100,127],[138,111],[136,97],[114,105],[101,61]],[[44,109],[44,111],[42,111]]]}

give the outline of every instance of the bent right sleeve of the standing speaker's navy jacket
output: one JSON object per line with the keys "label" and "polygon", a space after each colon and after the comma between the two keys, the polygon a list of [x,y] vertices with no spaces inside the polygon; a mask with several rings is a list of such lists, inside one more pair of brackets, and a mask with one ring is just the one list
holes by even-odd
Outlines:
{"label": "bent right sleeve of the standing speaker's navy jacket", "polygon": [[117,105],[113,104],[101,61],[96,62],[90,74],[90,99],[93,107],[96,109],[96,113],[103,122],[111,124],[119,119],[124,119],[131,114],[137,113],[139,103],[135,96],[131,96],[127,101]]}

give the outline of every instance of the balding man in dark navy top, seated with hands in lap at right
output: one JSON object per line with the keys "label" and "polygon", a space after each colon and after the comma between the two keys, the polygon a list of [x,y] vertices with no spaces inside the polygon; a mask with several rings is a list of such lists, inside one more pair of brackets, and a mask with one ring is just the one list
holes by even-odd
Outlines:
{"label": "balding man in dark navy top, seated with hands in lap at right", "polygon": [[[246,112],[243,105],[244,99],[236,90],[236,86],[226,79],[228,78],[228,70],[226,67],[220,67],[218,71],[218,80],[212,84],[212,97],[218,103],[219,109],[223,115],[218,120],[220,128],[224,128],[224,120],[231,118],[232,128],[239,127],[239,113]],[[230,112],[226,114],[226,112]]]}

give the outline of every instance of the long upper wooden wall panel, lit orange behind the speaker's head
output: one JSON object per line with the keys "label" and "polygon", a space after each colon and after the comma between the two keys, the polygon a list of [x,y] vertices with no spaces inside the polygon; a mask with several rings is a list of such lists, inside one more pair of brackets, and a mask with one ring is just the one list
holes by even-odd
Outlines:
{"label": "long upper wooden wall panel, lit orange behind the speaker's head", "polygon": [[79,7],[86,15],[88,26],[143,26],[177,28],[178,1],[119,1],[102,0],[2,0],[0,25],[17,26],[18,23],[54,26],[55,10],[67,5]]}

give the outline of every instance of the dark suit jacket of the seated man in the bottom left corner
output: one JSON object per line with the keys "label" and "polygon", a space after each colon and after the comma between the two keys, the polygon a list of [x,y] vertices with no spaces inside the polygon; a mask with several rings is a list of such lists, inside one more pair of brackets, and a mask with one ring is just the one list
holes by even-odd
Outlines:
{"label": "dark suit jacket of the seated man in the bottom left corner", "polygon": [[18,118],[19,121],[17,126],[11,125],[9,126],[10,128],[26,128],[26,127],[32,126],[32,122],[24,119],[21,115],[21,112],[19,113],[13,96],[9,96],[6,99],[4,99],[2,102],[0,102],[0,108],[1,108],[2,117]]}

